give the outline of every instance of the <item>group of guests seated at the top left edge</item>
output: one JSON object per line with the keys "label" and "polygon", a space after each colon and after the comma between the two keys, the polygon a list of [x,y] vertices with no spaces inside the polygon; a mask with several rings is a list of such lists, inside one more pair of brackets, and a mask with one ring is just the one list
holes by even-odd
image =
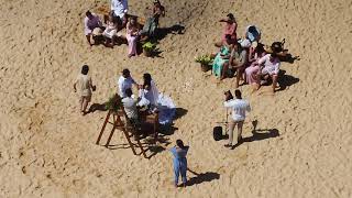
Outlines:
{"label": "group of guests seated at the top left edge", "polygon": [[[90,46],[103,43],[107,47],[127,43],[129,57],[138,55],[139,41],[146,41],[154,36],[160,18],[165,15],[165,8],[158,0],[153,1],[152,15],[145,20],[143,26],[135,15],[129,14],[128,0],[111,0],[110,8],[109,14],[103,16],[103,22],[98,14],[89,10],[86,12],[84,24],[87,42]],[[124,28],[125,35],[122,34]]]}

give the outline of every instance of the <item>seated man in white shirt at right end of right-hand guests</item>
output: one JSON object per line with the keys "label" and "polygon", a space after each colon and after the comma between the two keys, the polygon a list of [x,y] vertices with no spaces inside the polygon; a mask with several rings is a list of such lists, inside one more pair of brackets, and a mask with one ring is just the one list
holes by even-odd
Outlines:
{"label": "seated man in white shirt at right end of right-hand guests", "polygon": [[260,76],[264,79],[273,79],[273,92],[275,92],[280,62],[275,53],[267,54],[257,61],[261,66]]}

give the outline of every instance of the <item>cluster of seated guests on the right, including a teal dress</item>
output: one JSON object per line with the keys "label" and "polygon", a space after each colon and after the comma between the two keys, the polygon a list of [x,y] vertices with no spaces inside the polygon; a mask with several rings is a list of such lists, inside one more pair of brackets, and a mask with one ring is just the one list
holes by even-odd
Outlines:
{"label": "cluster of seated guests on the right, including a teal dress", "polygon": [[277,88],[280,46],[274,43],[270,50],[265,50],[260,43],[261,31],[255,25],[249,25],[245,29],[245,37],[238,38],[238,25],[232,13],[220,22],[224,22],[226,25],[221,42],[216,43],[219,52],[211,55],[215,58],[212,73],[220,80],[235,75],[237,88],[243,80],[243,84],[253,85],[257,90],[261,85],[272,80],[274,92]]}

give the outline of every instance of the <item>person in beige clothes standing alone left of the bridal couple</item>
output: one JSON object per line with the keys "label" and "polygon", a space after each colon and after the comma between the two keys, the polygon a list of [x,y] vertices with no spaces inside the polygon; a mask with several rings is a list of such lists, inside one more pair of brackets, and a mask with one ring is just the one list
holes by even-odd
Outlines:
{"label": "person in beige clothes standing alone left of the bridal couple", "polygon": [[78,90],[80,94],[79,96],[80,112],[82,116],[87,113],[86,109],[91,99],[91,91],[96,90],[96,86],[92,86],[92,80],[90,76],[88,76],[88,70],[89,70],[88,65],[84,65],[81,67],[81,74],[78,75],[74,84],[75,92],[77,92],[77,85],[78,85]]}

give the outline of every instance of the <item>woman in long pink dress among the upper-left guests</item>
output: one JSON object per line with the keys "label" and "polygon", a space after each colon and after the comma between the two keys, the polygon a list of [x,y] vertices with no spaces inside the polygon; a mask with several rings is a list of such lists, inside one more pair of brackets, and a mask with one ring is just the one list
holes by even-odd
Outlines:
{"label": "woman in long pink dress among the upper-left guests", "polygon": [[131,16],[130,22],[127,24],[127,35],[129,42],[129,57],[136,55],[136,41],[139,38],[139,28],[136,23],[136,18]]}

